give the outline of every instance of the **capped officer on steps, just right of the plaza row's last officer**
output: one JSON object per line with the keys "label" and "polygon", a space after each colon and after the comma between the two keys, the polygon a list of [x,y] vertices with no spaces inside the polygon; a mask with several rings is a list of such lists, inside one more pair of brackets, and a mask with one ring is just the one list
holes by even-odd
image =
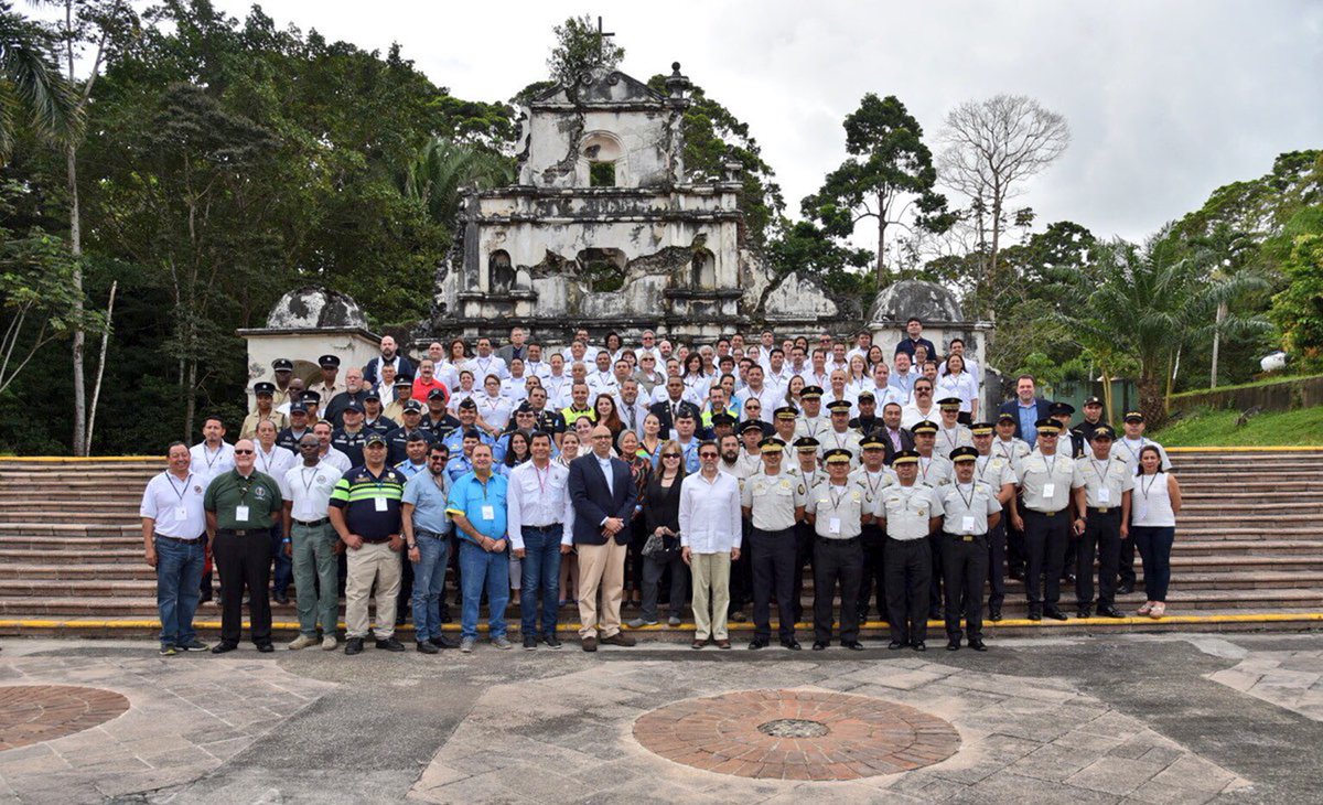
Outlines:
{"label": "capped officer on steps, just right of the plaza row's last officer", "polygon": [[[1056,420],[1044,417],[1035,425],[1039,429],[1039,446],[1016,470],[1024,508],[1019,503],[1012,507],[1011,520],[1024,531],[1029,559],[1024,580],[1029,620],[1041,621],[1043,616],[1048,616],[1064,621],[1066,614],[1061,612],[1058,602],[1061,565],[1072,542],[1070,487],[1076,483],[1074,459],[1057,451],[1061,425]],[[1082,481],[1080,485],[1082,486]]]}

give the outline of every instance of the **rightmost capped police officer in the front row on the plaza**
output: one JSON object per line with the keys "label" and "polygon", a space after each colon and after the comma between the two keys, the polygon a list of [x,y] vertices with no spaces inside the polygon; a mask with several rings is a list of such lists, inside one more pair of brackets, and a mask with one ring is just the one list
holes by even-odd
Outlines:
{"label": "rightmost capped police officer in the front row on the plaza", "polygon": [[960,647],[960,606],[970,647],[983,645],[983,579],[987,577],[987,535],[1002,519],[998,490],[975,478],[979,451],[951,450],[955,481],[933,491],[933,514],[942,518],[942,572],[946,587],[946,650]]}

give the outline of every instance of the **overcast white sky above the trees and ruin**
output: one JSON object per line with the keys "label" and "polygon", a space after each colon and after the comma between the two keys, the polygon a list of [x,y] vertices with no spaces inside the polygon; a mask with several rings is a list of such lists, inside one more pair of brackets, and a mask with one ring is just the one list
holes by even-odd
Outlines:
{"label": "overcast white sky above the trees and ruin", "polygon": [[[250,3],[216,0],[243,16]],[[267,0],[279,24],[401,42],[459,97],[509,98],[545,75],[552,28],[601,13],[640,79],[672,61],[749,123],[787,207],[844,158],[864,93],[894,94],[935,150],[954,105],[1025,94],[1070,123],[1023,204],[1142,238],[1283,151],[1323,147],[1323,3],[1113,0],[583,3]]]}

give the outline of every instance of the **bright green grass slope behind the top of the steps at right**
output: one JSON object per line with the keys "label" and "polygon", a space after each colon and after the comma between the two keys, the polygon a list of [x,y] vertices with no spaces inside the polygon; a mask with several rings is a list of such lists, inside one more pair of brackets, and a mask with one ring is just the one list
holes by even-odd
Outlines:
{"label": "bright green grass slope behind the top of the steps at right", "polygon": [[1167,448],[1323,446],[1323,408],[1270,410],[1236,426],[1238,410],[1201,408],[1152,433]]}

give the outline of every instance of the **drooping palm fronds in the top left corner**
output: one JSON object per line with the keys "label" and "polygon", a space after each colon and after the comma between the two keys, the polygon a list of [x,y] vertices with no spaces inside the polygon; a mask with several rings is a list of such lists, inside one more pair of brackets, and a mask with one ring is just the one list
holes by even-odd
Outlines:
{"label": "drooping palm fronds in the top left corner", "polygon": [[9,162],[20,118],[58,142],[82,123],[78,95],[50,58],[50,37],[0,3],[0,164]]}

